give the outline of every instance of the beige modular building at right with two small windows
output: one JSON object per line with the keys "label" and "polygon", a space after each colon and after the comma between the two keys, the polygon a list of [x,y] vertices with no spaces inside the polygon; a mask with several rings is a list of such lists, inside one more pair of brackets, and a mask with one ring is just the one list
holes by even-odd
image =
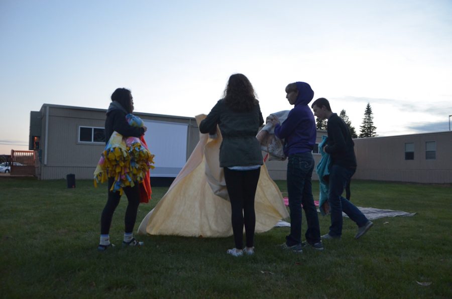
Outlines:
{"label": "beige modular building at right with two small windows", "polygon": [[354,141],[355,179],[452,183],[452,131]]}

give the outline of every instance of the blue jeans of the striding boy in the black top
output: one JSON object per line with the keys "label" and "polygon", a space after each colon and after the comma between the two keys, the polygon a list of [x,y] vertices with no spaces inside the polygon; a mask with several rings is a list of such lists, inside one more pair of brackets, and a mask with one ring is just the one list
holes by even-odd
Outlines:
{"label": "blue jeans of the striding boy in the black top", "polygon": [[328,183],[328,204],[331,217],[329,234],[333,237],[342,235],[342,212],[346,213],[358,227],[365,225],[369,221],[354,204],[342,197],[344,188],[355,174],[355,171],[355,168],[331,165]]}

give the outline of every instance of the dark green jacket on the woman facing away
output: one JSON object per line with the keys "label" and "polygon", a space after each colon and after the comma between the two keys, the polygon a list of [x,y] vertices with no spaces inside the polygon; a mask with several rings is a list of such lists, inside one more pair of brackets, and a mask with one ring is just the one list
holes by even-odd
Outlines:
{"label": "dark green jacket on the woman facing away", "polygon": [[216,132],[219,126],[223,141],[220,145],[220,167],[262,165],[261,145],[256,139],[264,123],[259,104],[251,111],[235,112],[224,100],[219,100],[199,124],[201,133]]}

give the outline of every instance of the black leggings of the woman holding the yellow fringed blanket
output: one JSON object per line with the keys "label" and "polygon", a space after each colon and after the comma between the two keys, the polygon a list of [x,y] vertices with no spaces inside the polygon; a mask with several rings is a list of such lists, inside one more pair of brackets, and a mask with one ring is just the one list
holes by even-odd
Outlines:
{"label": "black leggings of the woman holding the yellow fringed blanket", "polygon": [[[111,192],[110,188],[115,182],[114,178],[108,178],[108,199],[100,217],[100,234],[107,235],[110,231],[111,219],[115,213],[116,207],[121,199],[119,192]],[[132,233],[134,231],[135,221],[137,220],[138,206],[140,205],[140,189],[138,182],[135,182],[134,187],[124,188],[124,193],[127,196],[129,204],[126,209],[126,217],[124,218],[125,232]]]}

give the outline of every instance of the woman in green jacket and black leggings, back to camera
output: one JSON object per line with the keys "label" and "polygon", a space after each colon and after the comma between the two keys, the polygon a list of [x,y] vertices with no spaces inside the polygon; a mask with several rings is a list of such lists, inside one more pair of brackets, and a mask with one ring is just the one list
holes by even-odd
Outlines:
{"label": "woman in green jacket and black leggings, back to camera", "polygon": [[[254,199],[263,164],[261,146],[256,138],[264,123],[259,101],[251,82],[243,74],[231,75],[224,97],[199,124],[201,133],[214,134],[218,125],[222,142],[219,164],[231,203],[231,222],[236,247],[228,249],[233,256],[254,254],[256,214]],[[243,248],[243,227],[246,248]]]}

